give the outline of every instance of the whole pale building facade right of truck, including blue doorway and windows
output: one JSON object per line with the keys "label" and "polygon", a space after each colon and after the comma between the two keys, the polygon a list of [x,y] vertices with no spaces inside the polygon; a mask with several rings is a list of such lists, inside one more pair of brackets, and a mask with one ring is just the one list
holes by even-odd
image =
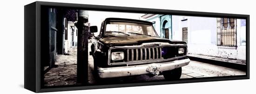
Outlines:
{"label": "whole pale building facade right of truck, including blue doorway and windows", "polygon": [[186,41],[188,54],[246,59],[243,19],[162,14],[145,14],[141,19],[152,22],[162,38]]}

